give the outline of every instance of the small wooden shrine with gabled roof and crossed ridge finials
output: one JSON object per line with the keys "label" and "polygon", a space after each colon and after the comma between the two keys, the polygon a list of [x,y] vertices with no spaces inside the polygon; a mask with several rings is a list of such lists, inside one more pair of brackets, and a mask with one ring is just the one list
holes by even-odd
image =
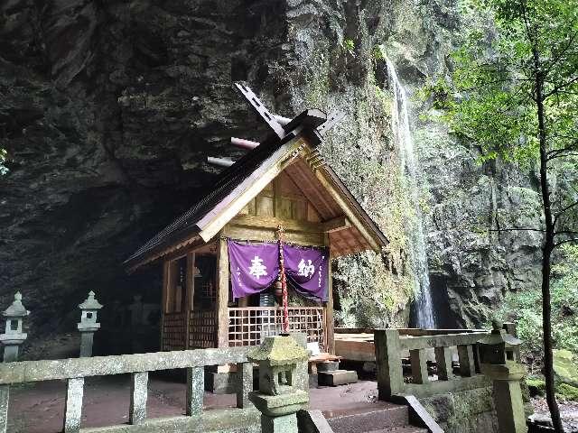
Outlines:
{"label": "small wooden shrine with gabled roof and crossed ridge finials", "polygon": [[[327,246],[331,259],[379,252],[387,238],[317,150],[339,115],[306,110],[294,119],[272,115],[246,86],[241,94],[272,130],[219,176],[207,195],[125,262],[134,272],[163,263],[162,350],[258,345],[281,330],[282,310],[263,292],[233,300],[227,239]],[[219,162],[219,159],[217,159]],[[231,165],[232,164],[232,165]],[[334,353],[331,266],[329,300],[291,297],[289,328]]]}

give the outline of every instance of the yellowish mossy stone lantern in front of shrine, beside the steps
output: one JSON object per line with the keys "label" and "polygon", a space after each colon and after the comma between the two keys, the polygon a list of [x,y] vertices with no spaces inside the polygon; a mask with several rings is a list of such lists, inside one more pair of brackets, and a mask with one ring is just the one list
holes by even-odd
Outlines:
{"label": "yellowish mossy stone lantern in front of shrine, beside the steps", "polygon": [[309,394],[298,386],[298,366],[309,355],[292,336],[267,336],[247,355],[259,364],[259,391],[250,392],[249,400],[261,411],[264,433],[297,433],[297,410],[305,409]]}

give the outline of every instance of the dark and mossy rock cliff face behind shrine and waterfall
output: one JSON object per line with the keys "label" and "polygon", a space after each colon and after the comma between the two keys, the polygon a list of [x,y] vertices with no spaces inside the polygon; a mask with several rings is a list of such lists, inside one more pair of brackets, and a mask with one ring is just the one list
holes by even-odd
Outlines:
{"label": "dark and mossy rock cliff face behind shrine and waterfall", "polygon": [[[10,172],[0,180],[0,305],[21,290],[31,335],[42,336],[72,329],[89,290],[104,304],[135,292],[160,299],[159,269],[129,277],[121,263],[210,188],[218,170],[208,155],[236,158],[228,137],[265,132],[231,87],[247,80],[283,115],[347,112],[323,152],[392,244],[383,257],[337,263],[340,320],[406,323],[406,202],[376,47],[415,89],[447,70],[455,11],[435,0],[4,2],[0,147]],[[471,235],[466,222],[493,224],[533,199],[535,179],[477,165],[475,150],[417,116],[415,131],[433,284],[449,293],[443,318],[478,325],[505,290],[536,284],[539,240]]]}

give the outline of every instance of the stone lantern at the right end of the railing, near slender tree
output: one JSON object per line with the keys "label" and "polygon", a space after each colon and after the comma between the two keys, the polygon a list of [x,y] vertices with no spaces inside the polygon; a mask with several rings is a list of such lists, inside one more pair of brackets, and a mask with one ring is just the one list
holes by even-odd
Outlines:
{"label": "stone lantern at the right end of the railing, near slender tree", "polygon": [[500,433],[526,433],[526,415],[520,381],[526,367],[519,364],[518,349],[521,341],[510,336],[497,320],[492,321],[489,336],[478,342],[481,373],[493,383],[494,403]]}

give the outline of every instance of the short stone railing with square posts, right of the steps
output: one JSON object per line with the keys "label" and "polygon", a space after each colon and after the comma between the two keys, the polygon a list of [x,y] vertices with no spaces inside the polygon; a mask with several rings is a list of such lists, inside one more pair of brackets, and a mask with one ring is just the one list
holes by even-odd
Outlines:
{"label": "short stone railing with square posts, right of the steps", "polygon": [[[480,374],[476,344],[488,335],[489,331],[479,330],[376,329],[379,400],[390,400],[396,395],[421,398],[489,386],[488,378]],[[452,366],[454,354],[459,362],[456,373]],[[406,357],[409,357],[411,373],[405,377],[402,358]],[[436,374],[428,372],[428,357],[435,360]]]}

